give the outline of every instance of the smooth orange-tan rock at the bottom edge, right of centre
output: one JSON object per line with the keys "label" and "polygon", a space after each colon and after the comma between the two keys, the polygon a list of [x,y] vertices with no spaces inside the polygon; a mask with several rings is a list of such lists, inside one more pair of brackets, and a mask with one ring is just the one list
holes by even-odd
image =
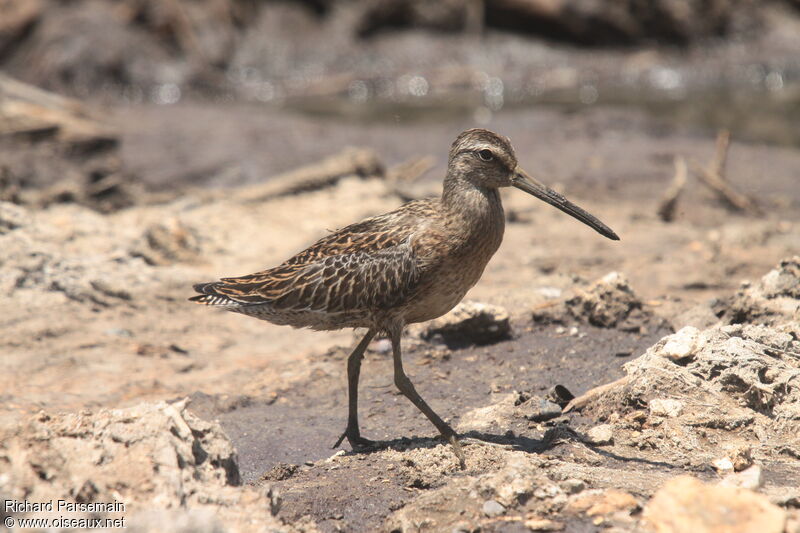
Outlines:
{"label": "smooth orange-tan rock at the bottom edge, right of centre", "polygon": [[782,533],[786,512],[749,490],[704,485],[691,476],[668,481],[644,509],[657,533]]}

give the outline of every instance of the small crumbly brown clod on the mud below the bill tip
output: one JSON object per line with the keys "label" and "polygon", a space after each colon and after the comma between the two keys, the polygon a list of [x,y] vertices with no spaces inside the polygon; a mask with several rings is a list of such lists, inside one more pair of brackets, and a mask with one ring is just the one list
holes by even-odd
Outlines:
{"label": "small crumbly brown clod on the mud below the bill tip", "polygon": [[542,324],[578,321],[600,328],[644,332],[665,325],[636,295],[624,274],[610,272],[586,287],[575,289],[567,298],[548,302],[533,311]]}

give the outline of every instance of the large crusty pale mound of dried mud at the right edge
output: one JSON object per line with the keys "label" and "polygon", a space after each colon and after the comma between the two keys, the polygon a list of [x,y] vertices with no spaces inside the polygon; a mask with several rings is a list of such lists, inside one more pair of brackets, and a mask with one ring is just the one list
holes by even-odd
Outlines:
{"label": "large crusty pale mound of dried mud at the right edge", "polygon": [[653,450],[721,475],[786,461],[800,427],[798,326],[686,328],[627,363],[627,376],[581,412],[607,423],[615,450]]}

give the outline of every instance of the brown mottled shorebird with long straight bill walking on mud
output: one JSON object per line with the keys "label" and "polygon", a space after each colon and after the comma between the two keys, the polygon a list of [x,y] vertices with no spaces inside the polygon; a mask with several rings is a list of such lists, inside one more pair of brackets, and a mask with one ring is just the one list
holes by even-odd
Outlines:
{"label": "brown mottled shorebird with long straight bill walking on mud", "polygon": [[406,325],[450,311],[478,282],[503,240],[499,189],[509,186],[619,240],[596,217],[522,170],[506,137],[471,129],[450,148],[441,197],[415,200],[342,228],[274,268],[195,285],[200,294],[190,300],[296,328],[366,328],[347,359],[347,427],[334,448],[345,438],[354,450],[376,444],[359,429],[358,379],[367,346],[385,333],[395,385],[452,444],[463,467],[458,435],[403,370],[400,336]]}

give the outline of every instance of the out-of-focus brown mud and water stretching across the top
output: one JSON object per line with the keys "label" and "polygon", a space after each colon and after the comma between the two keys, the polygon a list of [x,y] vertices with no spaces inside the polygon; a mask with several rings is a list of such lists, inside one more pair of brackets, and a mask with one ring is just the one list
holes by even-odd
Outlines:
{"label": "out-of-focus brown mud and water stretching across the top", "polygon": [[[643,157],[667,174],[692,147],[679,139],[720,128],[800,145],[797,0],[2,0],[0,70],[2,194],[114,174],[94,186],[103,209],[132,201],[120,181],[240,185],[345,145],[387,164],[438,154],[438,182],[474,126],[510,136],[543,179],[589,188],[650,187],[641,159],[613,162],[642,137],[664,138]],[[20,152],[67,104],[13,81],[91,109],[67,151],[120,159]]]}

